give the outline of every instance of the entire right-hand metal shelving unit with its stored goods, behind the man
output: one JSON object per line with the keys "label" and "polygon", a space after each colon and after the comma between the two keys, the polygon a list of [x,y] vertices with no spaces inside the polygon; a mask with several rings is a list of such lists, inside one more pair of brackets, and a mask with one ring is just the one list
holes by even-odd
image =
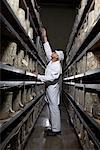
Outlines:
{"label": "entire right-hand metal shelving unit with its stored goods, behind the man", "polygon": [[[96,1],[87,0],[81,15],[76,16],[76,20],[79,18],[79,21],[75,20],[73,26],[75,31],[72,30],[69,38],[63,69],[63,94],[64,97],[66,96],[64,103],[83,150],[100,149],[100,117],[95,115],[95,111],[99,114],[97,106],[100,107],[99,12],[98,16],[93,18],[93,24],[89,26],[88,22],[89,13],[95,11],[95,8]],[[84,32],[83,35],[81,35],[82,32]],[[92,66],[93,61],[94,64],[96,61],[98,65]],[[94,110],[95,107],[96,110]]]}

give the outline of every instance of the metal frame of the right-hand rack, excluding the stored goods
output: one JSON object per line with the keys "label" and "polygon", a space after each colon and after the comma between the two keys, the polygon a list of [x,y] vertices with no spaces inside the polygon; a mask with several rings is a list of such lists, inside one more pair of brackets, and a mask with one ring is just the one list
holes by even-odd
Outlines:
{"label": "metal frame of the right-hand rack, excluding the stored goods", "polygon": [[[67,106],[67,111],[69,114],[70,121],[75,128],[75,131],[78,135],[76,126],[74,124],[74,117],[71,115],[69,106],[73,108],[74,116],[75,114],[79,118],[80,122],[83,124],[86,129],[89,138],[94,143],[96,149],[100,149],[100,124],[98,124],[94,118],[92,118],[84,109],[76,103],[75,99],[75,89],[80,89],[84,92],[93,92],[100,93],[100,68],[86,70],[82,73],[77,73],[76,65],[77,62],[81,60],[83,56],[87,56],[88,52],[93,52],[97,49],[100,49],[100,14],[95,20],[93,26],[90,28],[89,32],[86,34],[83,42],[77,49],[72,49],[72,46],[75,41],[75,37],[78,35],[79,30],[82,28],[87,15],[89,14],[91,8],[93,7],[95,0],[87,0],[87,3],[84,5],[84,8],[80,16],[76,16],[75,23],[72,28],[72,33],[69,38],[69,42],[66,48],[66,63],[64,64],[64,73],[63,73],[63,94],[65,95],[64,102]],[[78,20],[79,17],[79,20]],[[75,72],[69,74],[69,69],[74,65]],[[73,87],[74,96],[71,93],[66,91],[66,88]],[[85,96],[84,96],[85,97]],[[78,135],[80,140],[80,137]],[[81,145],[83,144],[80,140]],[[83,147],[83,145],[82,145]],[[84,148],[83,148],[84,149]]]}

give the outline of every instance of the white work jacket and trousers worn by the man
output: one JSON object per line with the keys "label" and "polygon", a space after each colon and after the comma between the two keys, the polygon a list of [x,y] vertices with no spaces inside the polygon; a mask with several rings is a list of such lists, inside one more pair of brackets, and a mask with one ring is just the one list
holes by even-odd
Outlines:
{"label": "white work jacket and trousers worn by the man", "polygon": [[[62,67],[60,61],[52,62],[52,50],[48,42],[44,43],[44,49],[49,60],[49,64],[46,67],[45,75],[38,75],[38,79],[43,82],[53,81],[62,74]],[[55,132],[60,131],[60,111],[58,106],[60,103],[59,83],[48,86],[46,89],[46,98],[49,103],[51,128]]]}

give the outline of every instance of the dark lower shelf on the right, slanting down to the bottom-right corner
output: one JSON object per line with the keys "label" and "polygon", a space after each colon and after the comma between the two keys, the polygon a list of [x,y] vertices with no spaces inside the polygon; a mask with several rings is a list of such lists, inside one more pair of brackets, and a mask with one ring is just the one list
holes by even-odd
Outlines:
{"label": "dark lower shelf on the right, slanting down to the bottom-right corner", "polygon": [[79,108],[79,106],[76,104],[74,99],[72,99],[72,97],[69,94],[67,94],[65,91],[63,92],[65,96],[67,97],[67,100],[71,103],[72,107],[74,108],[77,116],[79,117],[83,126],[87,130],[92,141],[95,143],[95,145],[99,149],[100,148],[100,140],[99,140],[100,126],[91,117],[89,117],[84,111],[82,111]]}

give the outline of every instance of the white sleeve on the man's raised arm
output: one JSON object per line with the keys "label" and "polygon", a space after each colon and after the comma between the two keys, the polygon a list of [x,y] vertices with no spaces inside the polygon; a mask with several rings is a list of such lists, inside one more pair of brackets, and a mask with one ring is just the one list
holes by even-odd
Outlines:
{"label": "white sleeve on the man's raised arm", "polygon": [[48,41],[44,43],[44,50],[45,50],[45,53],[46,53],[48,60],[50,61],[51,55],[52,55],[52,49],[51,49]]}

